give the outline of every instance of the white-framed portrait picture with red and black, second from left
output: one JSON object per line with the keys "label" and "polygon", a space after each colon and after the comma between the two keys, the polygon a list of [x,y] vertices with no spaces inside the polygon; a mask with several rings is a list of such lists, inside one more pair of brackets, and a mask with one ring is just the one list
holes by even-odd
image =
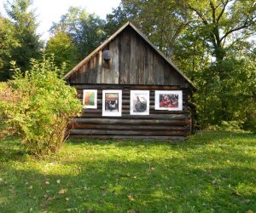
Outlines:
{"label": "white-framed portrait picture with red and black, second from left", "polygon": [[122,115],[122,90],[102,90],[102,116]]}

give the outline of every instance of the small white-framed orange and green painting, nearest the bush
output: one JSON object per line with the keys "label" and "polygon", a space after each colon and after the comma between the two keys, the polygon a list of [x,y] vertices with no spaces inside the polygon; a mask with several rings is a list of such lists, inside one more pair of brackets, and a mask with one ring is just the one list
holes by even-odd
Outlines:
{"label": "small white-framed orange and green painting, nearest the bush", "polygon": [[83,105],[84,105],[84,109],[97,108],[97,90],[96,89],[83,89]]}

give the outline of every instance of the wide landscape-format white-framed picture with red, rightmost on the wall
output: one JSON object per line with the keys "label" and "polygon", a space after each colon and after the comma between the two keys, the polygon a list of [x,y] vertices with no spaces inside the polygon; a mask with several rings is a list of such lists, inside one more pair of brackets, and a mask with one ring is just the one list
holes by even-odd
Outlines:
{"label": "wide landscape-format white-framed picture with red, rightmost on the wall", "polygon": [[155,110],[183,110],[183,91],[182,90],[167,90],[155,91],[154,96]]}

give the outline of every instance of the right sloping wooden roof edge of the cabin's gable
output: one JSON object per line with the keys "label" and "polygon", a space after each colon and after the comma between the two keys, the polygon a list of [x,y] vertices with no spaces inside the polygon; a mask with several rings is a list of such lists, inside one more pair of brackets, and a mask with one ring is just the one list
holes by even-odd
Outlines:
{"label": "right sloping wooden roof edge of the cabin's gable", "polygon": [[186,77],[186,75],[185,75],[183,72],[181,72],[181,71],[177,68],[177,66],[175,66],[175,65],[172,63],[172,61],[169,60],[169,59],[166,57],[166,55],[164,55],[164,54],[154,45],[154,43],[150,42],[149,39],[148,39],[148,37],[145,37],[145,36],[143,35],[143,33],[140,32],[140,31],[137,29],[137,27],[134,26],[131,22],[129,22],[129,23],[130,23],[130,26],[131,26],[141,37],[143,37],[143,39],[144,39],[158,54],[160,54],[160,55],[166,60],[166,62],[168,62],[183,78],[185,78],[185,79],[191,84],[191,86],[192,86],[193,89],[197,90],[195,84],[194,84],[188,77]]}

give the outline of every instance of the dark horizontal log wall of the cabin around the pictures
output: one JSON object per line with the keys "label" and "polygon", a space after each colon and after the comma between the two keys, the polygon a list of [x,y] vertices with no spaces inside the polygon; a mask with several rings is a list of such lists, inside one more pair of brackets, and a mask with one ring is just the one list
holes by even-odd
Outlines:
{"label": "dark horizontal log wall of the cabin around the pictures", "polygon": [[[75,138],[101,139],[150,139],[183,140],[190,134],[190,116],[188,107],[189,89],[178,86],[119,85],[119,84],[73,84],[82,101],[83,89],[97,89],[97,109],[84,109],[71,136]],[[122,116],[102,116],[102,90],[122,90]],[[130,114],[131,90],[149,90],[149,115]],[[154,110],[155,90],[183,90],[183,111]]]}

